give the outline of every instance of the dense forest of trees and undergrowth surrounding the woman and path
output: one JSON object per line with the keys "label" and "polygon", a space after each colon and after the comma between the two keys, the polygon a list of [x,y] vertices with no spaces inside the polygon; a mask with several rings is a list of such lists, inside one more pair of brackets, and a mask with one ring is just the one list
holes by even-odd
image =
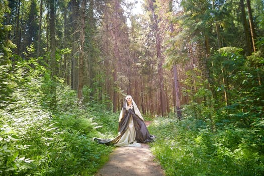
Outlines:
{"label": "dense forest of trees and undergrowth surrounding the woman and path", "polygon": [[167,140],[152,147],[168,175],[194,175],[168,160],[190,157],[178,144],[224,167],[197,174],[263,174],[262,0],[144,0],[142,14],[137,1],[0,2],[0,174],[94,173],[111,148],[85,142],[114,130],[125,95],[162,117],[151,129]]}

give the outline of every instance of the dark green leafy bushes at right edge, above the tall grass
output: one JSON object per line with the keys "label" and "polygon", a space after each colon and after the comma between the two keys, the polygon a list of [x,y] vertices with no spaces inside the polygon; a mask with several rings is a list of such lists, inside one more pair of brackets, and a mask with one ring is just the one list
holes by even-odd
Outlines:
{"label": "dark green leafy bushes at right edge, above the tall grass", "polygon": [[[258,118],[262,119],[263,55],[256,52],[246,58],[241,51],[235,47],[219,49],[219,54],[212,58],[216,66],[212,68],[212,77],[217,87],[216,98],[220,101],[224,90],[228,98],[228,106],[218,106],[219,117],[222,117],[219,120],[229,120],[235,122],[237,126],[249,127],[252,122],[258,121]],[[225,80],[225,84],[221,78]]]}

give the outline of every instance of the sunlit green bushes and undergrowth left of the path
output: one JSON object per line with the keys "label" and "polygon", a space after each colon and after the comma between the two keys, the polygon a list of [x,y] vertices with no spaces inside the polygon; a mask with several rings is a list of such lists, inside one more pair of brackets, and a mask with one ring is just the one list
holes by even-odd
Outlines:
{"label": "sunlit green bushes and undergrowth left of the path", "polygon": [[[49,82],[45,69],[31,59],[13,65],[16,69],[6,79],[15,86],[4,87],[9,101],[2,101],[0,110],[0,175],[93,175],[112,151],[111,146],[92,140],[103,137],[93,117],[114,115],[96,108],[80,109],[76,92],[60,80],[56,110],[50,111],[47,90],[54,82]],[[104,124],[108,122],[102,120],[102,125],[113,128]]]}

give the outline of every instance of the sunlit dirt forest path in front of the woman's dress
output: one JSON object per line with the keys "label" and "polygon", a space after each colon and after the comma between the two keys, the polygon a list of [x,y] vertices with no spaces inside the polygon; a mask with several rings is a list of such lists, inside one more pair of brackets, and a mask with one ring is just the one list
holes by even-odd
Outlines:
{"label": "sunlit dirt forest path in front of the woman's dress", "polygon": [[[150,121],[145,121],[148,126]],[[163,176],[161,166],[154,161],[148,144],[141,147],[117,147],[111,153],[109,161],[101,168],[96,176]]]}

